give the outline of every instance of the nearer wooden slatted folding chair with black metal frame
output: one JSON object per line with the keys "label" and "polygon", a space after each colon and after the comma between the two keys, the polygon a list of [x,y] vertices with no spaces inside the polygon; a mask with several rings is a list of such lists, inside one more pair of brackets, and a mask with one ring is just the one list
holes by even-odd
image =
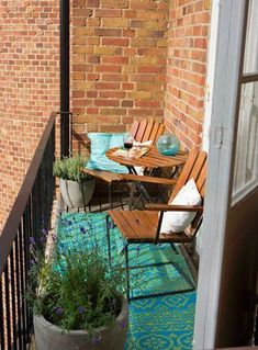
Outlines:
{"label": "nearer wooden slatted folding chair with black metal frame", "polygon": [[[134,180],[137,180],[137,176],[134,176]],[[148,181],[147,177],[145,177],[146,181]],[[162,244],[169,242],[173,244],[186,244],[190,242],[194,239],[201,222],[202,222],[202,213],[203,213],[203,199],[204,199],[204,185],[206,179],[206,153],[204,151],[191,151],[189,154],[188,160],[178,178],[178,180],[169,180],[175,184],[171,196],[168,203],[175,199],[177,193],[181,190],[181,188],[188,182],[190,179],[194,179],[197,183],[197,188],[202,197],[202,205],[198,206],[182,206],[182,205],[171,205],[171,204],[147,204],[145,211],[109,211],[109,215],[106,216],[106,234],[108,234],[108,245],[109,245],[109,258],[111,257],[111,246],[110,246],[110,223],[109,218],[112,217],[113,223],[119,227],[123,237],[126,240],[126,245],[124,248],[125,252],[125,262],[126,262],[126,271],[127,271],[127,296],[130,300],[130,262],[128,262],[128,246],[132,244]],[[154,180],[153,178],[149,180]],[[143,179],[141,179],[143,181]],[[158,181],[158,179],[155,179]],[[162,180],[159,179],[160,183]],[[184,232],[181,233],[171,233],[171,234],[162,234],[160,233],[161,222],[164,217],[164,212],[175,212],[175,211],[187,211],[187,212],[197,212],[195,217]],[[173,246],[172,246],[173,247]],[[173,247],[175,248],[175,247]],[[190,289],[183,291],[192,291],[194,289],[191,280],[181,271],[181,269],[175,263],[171,262],[175,268],[180,271],[180,273],[184,276],[187,282],[190,285]],[[181,293],[182,291],[173,291],[166,292],[161,294],[153,294],[148,296],[156,295],[167,295]],[[137,296],[133,298],[139,298],[146,296]]]}

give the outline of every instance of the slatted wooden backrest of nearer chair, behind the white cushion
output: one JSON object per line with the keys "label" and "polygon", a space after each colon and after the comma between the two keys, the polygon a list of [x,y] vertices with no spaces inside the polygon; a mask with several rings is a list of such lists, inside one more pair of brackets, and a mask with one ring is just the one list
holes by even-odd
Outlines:
{"label": "slatted wooden backrest of nearer chair, behind the white cushion", "polygon": [[[197,183],[198,191],[202,196],[202,204],[205,194],[205,181],[206,181],[206,153],[201,150],[192,150],[183,166],[182,171],[178,178],[177,184],[173,188],[173,191],[170,195],[168,203],[170,203],[180,189],[190,180],[193,179]],[[188,227],[189,234],[195,236],[200,222],[202,218],[202,213],[198,213],[194,219],[192,221],[190,227]]]}

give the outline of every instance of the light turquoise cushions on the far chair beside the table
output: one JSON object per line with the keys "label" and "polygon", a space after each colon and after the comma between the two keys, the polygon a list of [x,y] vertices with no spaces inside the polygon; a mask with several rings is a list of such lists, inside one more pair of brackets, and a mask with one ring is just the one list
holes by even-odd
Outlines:
{"label": "light turquoise cushions on the far chair beside the table", "polygon": [[87,169],[105,170],[112,172],[128,173],[126,167],[106,158],[105,153],[113,147],[123,147],[124,134],[89,133],[91,142],[90,160]]}

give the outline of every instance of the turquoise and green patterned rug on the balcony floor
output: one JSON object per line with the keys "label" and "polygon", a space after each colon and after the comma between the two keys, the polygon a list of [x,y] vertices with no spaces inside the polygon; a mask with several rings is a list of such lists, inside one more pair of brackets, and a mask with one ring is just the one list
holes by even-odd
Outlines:
{"label": "turquoise and green patterned rug on the balcony floor", "polygon": [[[105,213],[65,213],[58,224],[58,245],[61,249],[94,246],[108,257]],[[120,230],[111,225],[113,262],[123,261],[121,251],[125,245]],[[122,260],[121,260],[122,259]],[[176,262],[190,276],[187,263],[170,245],[130,246],[131,296],[145,293],[169,292],[189,289]],[[133,262],[133,263],[132,263]],[[153,267],[153,263],[167,262]],[[126,350],[187,350],[192,349],[195,292],[159,297],[148,297],[130,303],[130,331]]]}

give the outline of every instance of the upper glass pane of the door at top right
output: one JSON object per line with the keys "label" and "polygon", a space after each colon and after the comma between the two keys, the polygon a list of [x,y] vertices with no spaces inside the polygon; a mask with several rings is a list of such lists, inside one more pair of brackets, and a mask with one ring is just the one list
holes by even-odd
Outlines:
{"label": "upper glass pane of the door at top right", "polygon": [[250,0],[246,32],[244,74],[258,74],[258,1]]}

